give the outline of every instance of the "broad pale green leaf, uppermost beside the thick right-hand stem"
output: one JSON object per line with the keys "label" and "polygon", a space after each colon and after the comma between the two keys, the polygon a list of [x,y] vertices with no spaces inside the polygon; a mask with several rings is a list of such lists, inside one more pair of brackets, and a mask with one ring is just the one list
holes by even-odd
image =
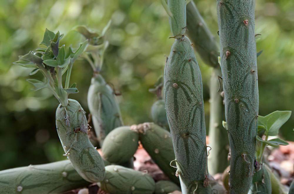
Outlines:
{"label": "broad pale green leaf, uppermost beside the thick right-hand stem", "polygon": [[265,133],[268,136],[276,136],[280,127],[290,118],[291,113],[291,111],[275,111],[267,116],[258,116],[258,125],[265,126]]}

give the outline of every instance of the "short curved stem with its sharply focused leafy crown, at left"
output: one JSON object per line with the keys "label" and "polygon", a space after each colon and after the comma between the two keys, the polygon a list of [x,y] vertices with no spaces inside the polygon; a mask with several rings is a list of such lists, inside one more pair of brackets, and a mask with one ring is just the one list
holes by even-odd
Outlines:
{"label": "short curved stem with its sharply focused leafy crown, at left", "polygon": [[[85,111],[76,100],[68,98],[71,93],[77,93],[76,83],[69,86],[71,70],[76,59],[88,46],[88,40],[77,49],[59,43],[63,35],[46,29],[41,44],[46,48],[37,48],[24,56],[19,56],[19,64],[24,67],[34,67],[31,74],[41,71],[45,81],[28,79],[35,90],[49,88],[60,102],[56,109],[56,129],[63,146],[65,156],[69,158],[74,169],[88,182],[98,182],[105,176],[103,159],[88,138],[88,123]],[[62,75],[66,73],[63,86]]]}

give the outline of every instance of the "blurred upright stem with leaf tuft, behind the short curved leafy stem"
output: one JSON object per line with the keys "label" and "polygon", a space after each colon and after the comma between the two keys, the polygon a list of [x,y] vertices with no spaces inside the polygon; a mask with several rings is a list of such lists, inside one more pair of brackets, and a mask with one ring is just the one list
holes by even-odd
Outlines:
{"label": "blurred upright stem with leaf tuft, behind the short curved leafy stem", "polygon": [[94,130],[101,147],[108,133],[117,127],[123,126],[115,91],[100,74],[104,54],[109,45],[108,41],[105,40],[105,34],[110,25],[111,21],[104,27],[101,34],[91,32],[85,26],[78,26],[75,29],[89,41],[88,48],[82,54],[82,57],[88,61],[93,69],[87,102]]}

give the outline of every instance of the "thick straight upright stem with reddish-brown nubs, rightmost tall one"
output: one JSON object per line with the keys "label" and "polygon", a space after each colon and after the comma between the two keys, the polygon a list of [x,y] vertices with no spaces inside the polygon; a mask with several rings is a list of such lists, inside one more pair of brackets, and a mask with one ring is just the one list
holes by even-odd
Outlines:
{"label": "thick straight upright stem with reddish-brown nubs, rightmost tall one", "polygon": [[231,148],[230,193],[248,193],[258,117],[254,0],[218,0],[225,116]]}

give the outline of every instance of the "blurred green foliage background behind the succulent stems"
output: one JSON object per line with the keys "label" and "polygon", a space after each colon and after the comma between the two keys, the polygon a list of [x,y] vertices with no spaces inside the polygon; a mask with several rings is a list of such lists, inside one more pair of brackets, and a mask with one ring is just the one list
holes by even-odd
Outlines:
{"label": "blurred green foliage background behind the succulent stems", "polygon": [[[218,39],[215,0],[195,1]],[[76,25],[101,31],[109,20],[102,75],[113,84],[126,125],[152,121],[156,96],[148,92],[163,74],[165,55],[173,39],[168,15],[158,0],[1,0],[0,5],[0,170],[64,159],[55,129],[58,101],[44,89],[31,91],[25,80],[31,70],[13,65],[42,41],[45,28],[66,34]],[[256,1],[259,114],[294,110],[294,1]],[[209,115],[211,68],[197,56],[203,76],[206,123]],[[40,77],[41,75],[34,75]],[[78,100],[88,112],[86,95],[92,69],[75,63],[71,81],[78,83]],[[280,136],[294,141],[294,116]]]}

